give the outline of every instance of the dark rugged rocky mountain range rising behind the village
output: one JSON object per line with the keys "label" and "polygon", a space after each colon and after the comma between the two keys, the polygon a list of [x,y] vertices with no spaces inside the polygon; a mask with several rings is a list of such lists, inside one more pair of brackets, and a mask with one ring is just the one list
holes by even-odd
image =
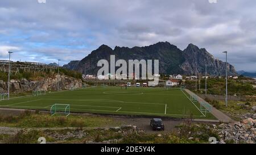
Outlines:
{"label": "dark rugged rocky mountain range rising behind the village", "polygon": [[[86,74],[97,74],[98,60],[106,59],[110,61],[110,55],[115,55],[115,60],[159,60],[159,73],[163,74],[195,74],[205,72],[205,60],[207,61],[208,74],[219,76],[225,75],[225,62],[215,59],[204,48],[198,48],[196,45],[189,44],[184,51],[181,51],[175,45],[168,42],[159,42],[146,47],[115,47],[114,49],[107,45],[101,45],[98,49],[92,51],[81,61],[71,61],[64,65],[65,68],[77,70]],[[229,75],[237,75],[234,66],[228,64]]]}

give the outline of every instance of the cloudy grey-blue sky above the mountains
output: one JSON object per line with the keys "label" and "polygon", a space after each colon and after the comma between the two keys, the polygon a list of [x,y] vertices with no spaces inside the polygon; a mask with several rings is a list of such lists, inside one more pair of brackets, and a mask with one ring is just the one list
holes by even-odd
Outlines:
{"label": "cloudy grey-blue sky above the mountains", "polygon": [[13,60],[64,65],[101,44],[168,41],[220,60],[228,51],[237,70],[256,71],[255,9],[255,0],[1,0],[0,60],[12,51]]}

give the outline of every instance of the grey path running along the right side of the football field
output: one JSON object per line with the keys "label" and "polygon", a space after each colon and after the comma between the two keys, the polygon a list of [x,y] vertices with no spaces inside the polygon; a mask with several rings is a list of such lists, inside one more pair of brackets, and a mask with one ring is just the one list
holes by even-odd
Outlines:
{"label": "grey path running along the right side of the football field", "polygon": [[[196,95],[195,93],[193,93],[192,91],[185,89],[185,91],[189,94],[189,95]],[[197,96],[197,95],[196,95]],[[200,98],[199,96],[197,96],[197,98],[199,99],[199,102],[206,102],[204,99]],[[212,108],[212,115],[215,116],[218,119],[218,122],[224,122],[224,123],[232,123],[234,122],[234,120],[232,118],[230,118],[228,115],[224,114],[223,112],[221,112],[220,110],[217,110],[216,108]],[[209,121],[210,120],[205,120],[205,121]]]}

